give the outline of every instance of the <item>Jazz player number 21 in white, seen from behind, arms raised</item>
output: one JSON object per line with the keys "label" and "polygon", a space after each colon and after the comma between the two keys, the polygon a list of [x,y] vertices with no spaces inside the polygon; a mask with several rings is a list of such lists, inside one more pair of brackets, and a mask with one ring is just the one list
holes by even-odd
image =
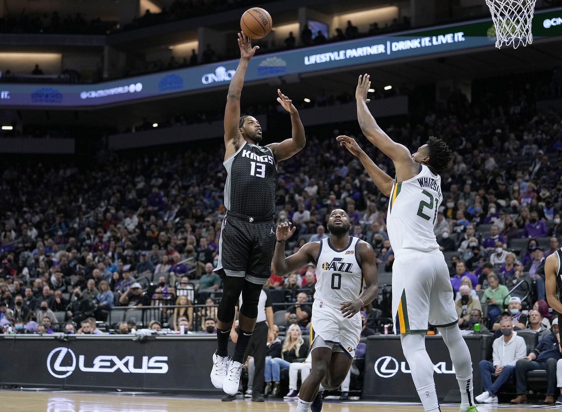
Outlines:
{"label": "Jazz player number 21 in white, seen from behind, arms raised", "polygon": [[402,350],[425,411],[441,410],[433,363],[425,350],[424,338],[430,323],[438,328],[449,349],[461,393],[460,411],[475,412],[470,352],[459,330],[447,264],[433,233],[437,208],[443,200],[439,173],[449,168],[452,152],[435,137],[430,137],[413,155],[402,144],[393,142],[367,107],[370,84],[368,75],[359,76],[355,91],[357,120],[365,137],[393,161],[396,179],[380,170],[355,140],[339,136],[337,141],[359,158],[380,191],[390,197],[387,230],[395,253],[395,333],[400,334]]}

